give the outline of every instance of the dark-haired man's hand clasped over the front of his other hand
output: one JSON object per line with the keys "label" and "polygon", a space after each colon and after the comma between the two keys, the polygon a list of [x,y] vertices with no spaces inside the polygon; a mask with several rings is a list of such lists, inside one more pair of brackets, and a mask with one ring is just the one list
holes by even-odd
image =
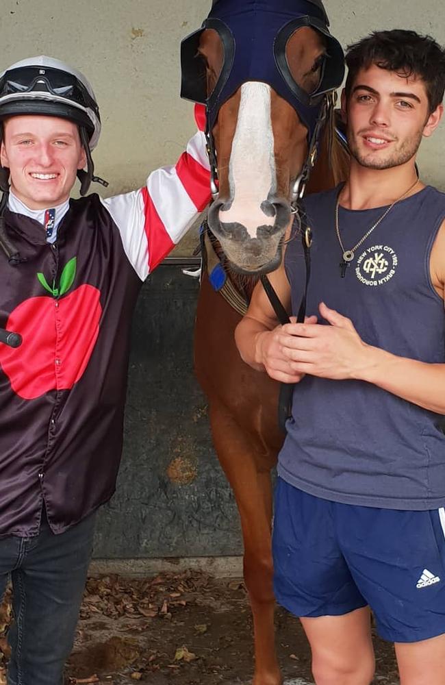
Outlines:
{"label": "dark-haired man's hand clasped over the front of his other hand", "polygon": [[[329,325],[288,323],[277,331],[281,364],[288,360],[288,373],[305,374],[333,380],[360,378],[370,364],[372,347],[361,340],[350,319],[329,309],[324,302],[320,315]],[[314,318],[314,317],[311,317]]]}

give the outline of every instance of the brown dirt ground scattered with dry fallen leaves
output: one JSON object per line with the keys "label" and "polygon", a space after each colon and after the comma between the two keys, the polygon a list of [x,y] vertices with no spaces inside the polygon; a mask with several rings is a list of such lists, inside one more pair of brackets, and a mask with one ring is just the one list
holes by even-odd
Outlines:
{"label": "brown dirt ground scattered with dry fallen leaves", "polygon": [[[8,612],[4,603],[0,634]],[[276,624],[285,685],[312,684],[309,649],[298,621],[278,609]],[[249,602],[240,580],[216,580],[195,571],[143,579],[90,578],[66,685],[248,685],[251,636]],[[0,637],[0,657],[2,649]],[[375,649],[374,683],[396,685],[392,647],[376,638]]]}

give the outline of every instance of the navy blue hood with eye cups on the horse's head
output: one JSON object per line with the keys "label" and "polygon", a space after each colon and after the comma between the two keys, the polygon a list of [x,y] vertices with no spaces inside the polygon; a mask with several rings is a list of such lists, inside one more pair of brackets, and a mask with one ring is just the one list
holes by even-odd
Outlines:
{"label": "navy blue hood with eye cups on the horse's head", "polygon": [[[288,42],[302,27],[322,34],[320,79],[311,92],[295,79],[288,61]],[[207,93],[206,71],[198,54],[205,29],[218,32],[223,46],[223,66],[212,92]],[[298,40],[298,36],[296,38]],[[181,45],[181,97],[207,105],[207,125],[212,130],[221,105],[248,81],[272,86],[294,107],[312,140],[324,96],[338,88],[344,77],[344,54],[329,32],[321,0],[214,0],[203,26]]]}

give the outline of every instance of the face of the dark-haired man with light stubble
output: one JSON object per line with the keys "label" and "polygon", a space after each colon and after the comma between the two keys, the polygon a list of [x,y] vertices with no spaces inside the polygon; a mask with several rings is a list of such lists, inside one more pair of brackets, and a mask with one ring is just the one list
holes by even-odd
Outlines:
{"label": "face of the dark-haired man with light stubble", "polygon": [[391,169],[408,164],[422,136],[431,136],[443,107],[429,110],[427,89],[420,77],[381,69],[361,69],[342,112],[353,158],[368,169]]}

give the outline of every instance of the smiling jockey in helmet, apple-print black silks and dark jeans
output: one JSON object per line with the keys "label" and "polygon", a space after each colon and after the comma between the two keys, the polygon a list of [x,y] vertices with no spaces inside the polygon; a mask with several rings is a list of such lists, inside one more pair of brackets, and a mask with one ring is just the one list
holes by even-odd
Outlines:
{"label": "smiling jockey in helmet, apple-print black silks and dark jeans", "polygon": [[[205,138],[147,186],[86,195],[101,130],[87,79],[46,57],[0,76],[0,597],[10,685],[61,685],[114,493],[138,292],[209,201]],[[70,199],[76,176],[81,199]],[[12,332],[8,342],[4,331]]]}

